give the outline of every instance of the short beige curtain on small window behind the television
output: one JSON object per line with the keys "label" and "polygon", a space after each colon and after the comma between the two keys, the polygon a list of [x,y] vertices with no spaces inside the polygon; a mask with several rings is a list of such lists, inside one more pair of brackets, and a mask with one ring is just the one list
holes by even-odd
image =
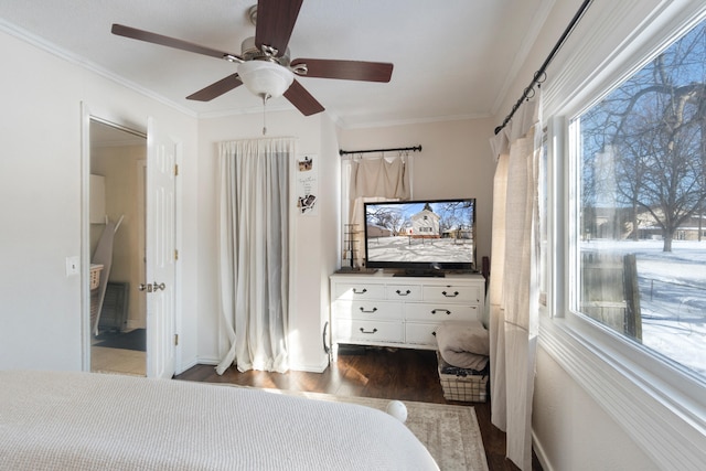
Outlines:
{"label": "short beige curtain on small window behind the television", "polygon": [[[402,157],[359,159],[352,160],[350,165],[349,223],[355,224],[360,232],[365,229],[363,203],[409,200],[409,157],[406,161]],[[363,250],[355,253],[355,266],[362,266],[364,256]]]}

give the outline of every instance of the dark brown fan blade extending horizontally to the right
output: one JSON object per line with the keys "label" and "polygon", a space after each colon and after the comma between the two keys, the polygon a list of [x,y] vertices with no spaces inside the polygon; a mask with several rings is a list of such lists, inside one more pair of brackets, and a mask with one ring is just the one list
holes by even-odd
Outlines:
{"label": "dark brown fan blade extending horizontally to the right", "polygon": [[306,77],[343,78],[347,81],[389,82],[393,64],[386,62],[333,61],[325,58],[297,58],[291,66],[307,65]]}

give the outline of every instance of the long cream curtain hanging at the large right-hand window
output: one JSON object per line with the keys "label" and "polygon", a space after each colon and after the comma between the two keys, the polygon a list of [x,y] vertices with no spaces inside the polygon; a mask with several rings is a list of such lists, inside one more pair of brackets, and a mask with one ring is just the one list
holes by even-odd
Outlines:
{"label": "long cream curtain hanging at the large right-hand window", "polygon": [[493,186],[490,280],[491,421],[507,433],[506,454],[532,469],[532,398],[538,329],[536,270],[539,109],[526,103],[491,140]]}

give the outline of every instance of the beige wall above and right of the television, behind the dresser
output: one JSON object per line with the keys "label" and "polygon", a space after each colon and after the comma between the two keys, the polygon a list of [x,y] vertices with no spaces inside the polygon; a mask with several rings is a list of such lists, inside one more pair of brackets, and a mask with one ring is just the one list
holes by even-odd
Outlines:
{"label": "beige wall above and right of the television, behind the dresser", "polygon": [[493,174],[489,140],[492,119],[463,119],[383,128],[342,129],[344,150],[421,146],[414,156],[415,199],[475,197],[478,201],[478,264],[490,257]]}

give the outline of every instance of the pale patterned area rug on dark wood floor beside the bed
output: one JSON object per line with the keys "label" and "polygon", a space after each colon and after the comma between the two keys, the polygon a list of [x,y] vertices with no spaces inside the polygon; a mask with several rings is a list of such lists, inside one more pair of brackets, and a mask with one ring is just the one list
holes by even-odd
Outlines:
{"label": "pale patterned area rug on dark wood floor beside the bed", "polygon": [[[268,393],[292,394],[317,400],[351,403],[385,410],[389,400],[370,397],[333,396],[320,393],[297,393],[264,389]],[[469,406],[403,400],[407,406],[405,425],[421,441],[441,471],[488,471],[483,439],[475,410]]]}

